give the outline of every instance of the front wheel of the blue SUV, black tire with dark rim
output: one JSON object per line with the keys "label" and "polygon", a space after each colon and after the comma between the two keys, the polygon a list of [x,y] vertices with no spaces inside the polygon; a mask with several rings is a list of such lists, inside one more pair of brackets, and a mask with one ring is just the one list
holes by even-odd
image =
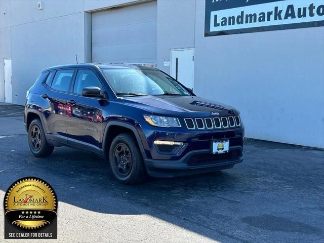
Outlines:
{"label": "front wheel of the blue SUV, black tire with dark rim", "polygon": [[129,133],[117,135],[110,145],[109,165],[114,177],[123,184],[144,181],[146,170],[143,157],[134,136]]}

